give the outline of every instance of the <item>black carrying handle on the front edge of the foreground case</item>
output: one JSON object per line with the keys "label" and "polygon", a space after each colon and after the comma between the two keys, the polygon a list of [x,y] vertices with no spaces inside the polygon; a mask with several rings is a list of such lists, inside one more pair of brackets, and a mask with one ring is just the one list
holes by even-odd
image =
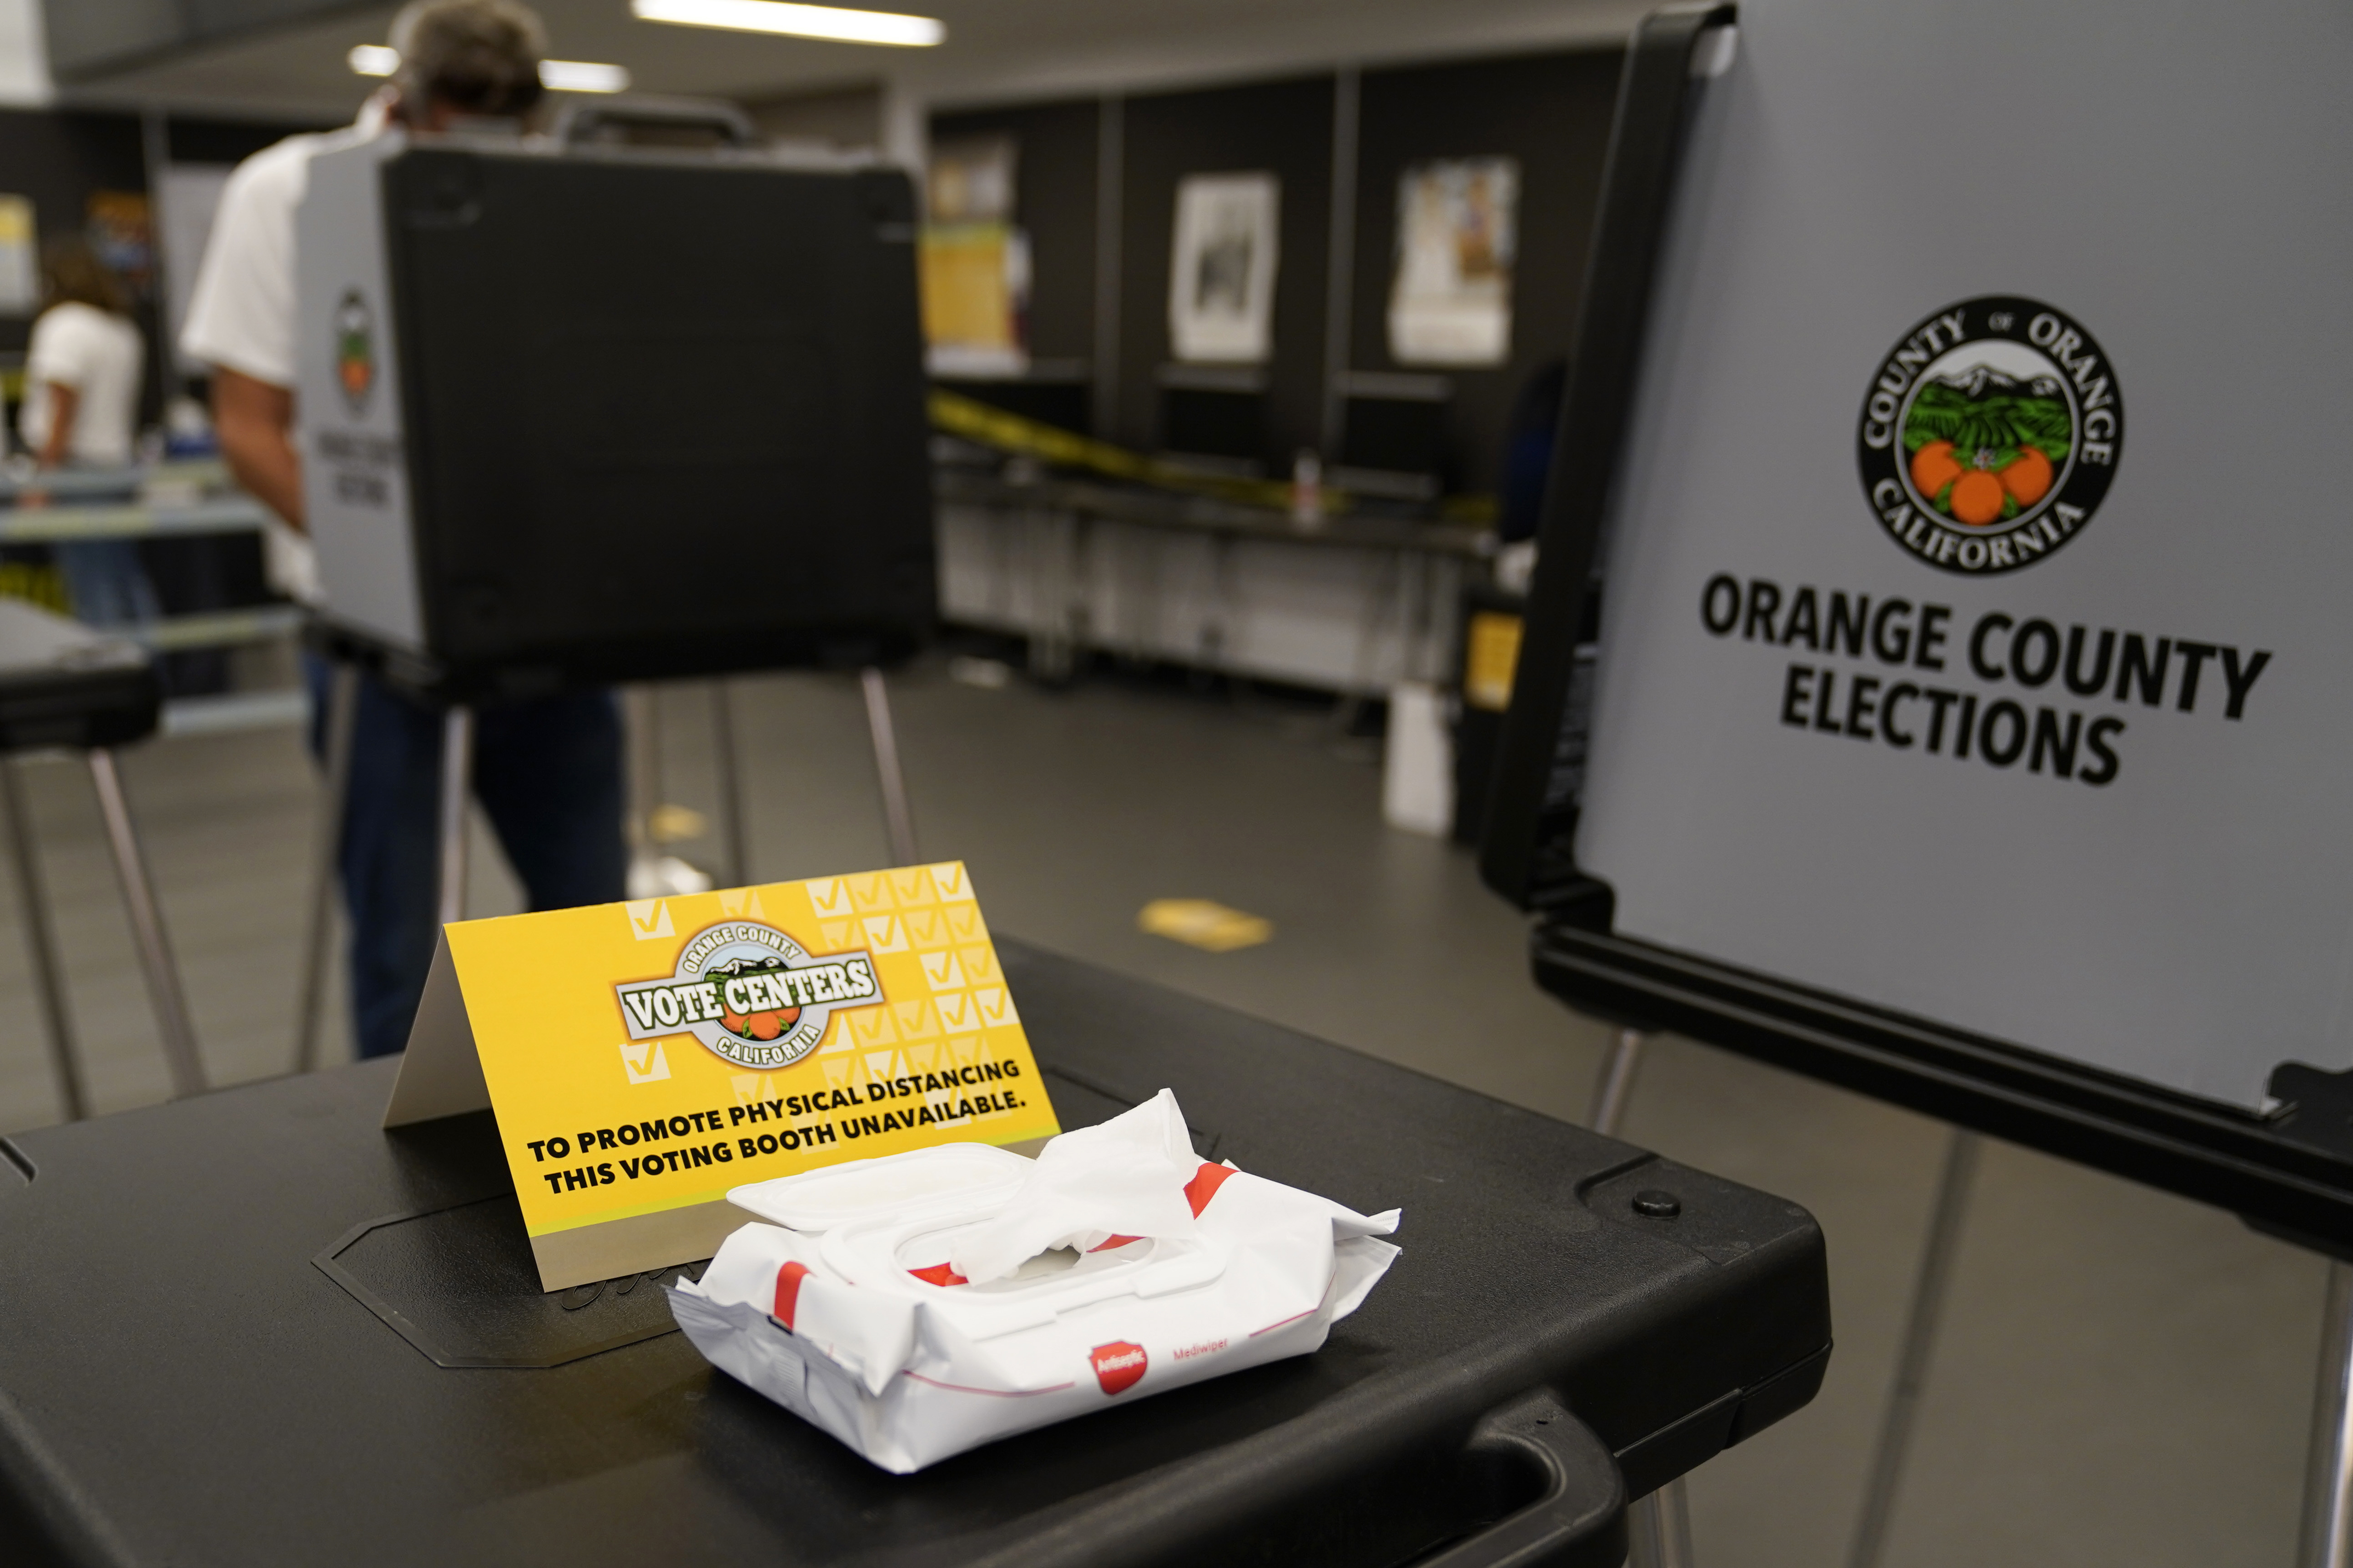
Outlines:
{"label": "black carrying handle on the front edge of the foreground case", "polygon": [[1473,1472],[1541,1479],[1541,1495],[1414,1568],[1619,1568],[1626,1479],[1591,1427],[1548,1389],[1489,1410],[1471,1432]]}

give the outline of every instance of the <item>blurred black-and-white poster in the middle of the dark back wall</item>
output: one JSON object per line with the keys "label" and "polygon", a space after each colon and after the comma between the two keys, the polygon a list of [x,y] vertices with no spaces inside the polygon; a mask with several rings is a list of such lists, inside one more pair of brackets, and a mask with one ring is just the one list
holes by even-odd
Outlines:
{"label": "blurred black-and-white poster in the middle of the dark back wall", "polygon": [[1275,341],[1273,174],[1186,174],[1176,181],[1169,252],[1169,348],[1193,364],[1264,364]]}

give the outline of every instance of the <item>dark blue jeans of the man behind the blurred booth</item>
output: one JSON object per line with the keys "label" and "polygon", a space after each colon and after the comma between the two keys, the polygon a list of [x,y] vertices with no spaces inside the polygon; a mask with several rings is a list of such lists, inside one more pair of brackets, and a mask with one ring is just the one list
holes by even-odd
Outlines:
{"label": "dark blue jeans of the man behind the blurred booth", "polygon": [[[311,752],[325,752],[332,665],[304,654]],[[336,870],[351,912],[351,1013],[360,1056],[409,1044],[440,936],[442,710],[360,675],[351,795]],[[485,703],[473,717],[473,795],[534,910],[626,896],[621,715],[609,691]]]}

